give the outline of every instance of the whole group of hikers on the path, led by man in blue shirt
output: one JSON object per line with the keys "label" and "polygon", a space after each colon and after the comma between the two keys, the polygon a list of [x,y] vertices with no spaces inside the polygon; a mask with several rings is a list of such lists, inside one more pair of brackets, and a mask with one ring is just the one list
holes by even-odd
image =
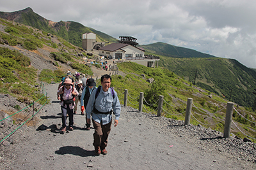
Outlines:
{"label": "whole group of hikers on the path, led by man in blue shirt", "polygon": [[[61,132],[74,130],[74,114],[77,113],[77,105],[81,104],[81,115],[85,115],[86,130],[90,131],[91,117],[95,132],[93,133],[93,146],[96,155],[106,155],[108,152],[108,135],[111,130],[112,113],[115,115],[114,126],[118,125],[121,105],[118,96],[111,85],[111,76],[104,74],[100,78],[99,87],[96,87],[93,78],[86,78],[85,74],[74,74],[70,71],[61,79],[57,91],[61,104]],[[79,77],[82,76],[81,80]],[[68,126],[67,126],[68,117]]]}

